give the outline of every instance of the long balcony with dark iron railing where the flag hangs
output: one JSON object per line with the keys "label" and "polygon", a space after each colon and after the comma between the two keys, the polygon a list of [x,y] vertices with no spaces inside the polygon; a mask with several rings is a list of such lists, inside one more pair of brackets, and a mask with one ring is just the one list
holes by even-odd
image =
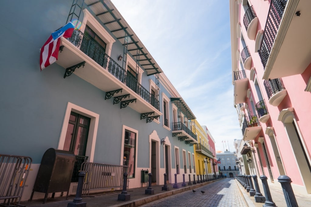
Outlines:
{"label": "long balcony with dark iron railing where the flag hangs", "polygon": [[132,109],[139,113],[154,111],[155,116],[162,115],[159,101],[79,30],[74,30],[69,39],[62,38],[61,45],[64,47],[58,55],[58,65],[69,68],[85,61],[83,68],[66,70],[64,78],[74,73],[104,92],[122,88],[122,94],[130,94],[131,99],[137,99],[136,103],[129,105]]}

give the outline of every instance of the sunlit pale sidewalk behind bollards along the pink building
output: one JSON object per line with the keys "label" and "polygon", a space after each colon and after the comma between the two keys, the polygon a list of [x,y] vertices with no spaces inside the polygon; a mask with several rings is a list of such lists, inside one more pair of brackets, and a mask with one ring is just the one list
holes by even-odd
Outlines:
{"label": "sunlit pale sidewalk behind bollards along the pink building", "polygon": [[[239,186],[239,189],[242,192],[242,195],[244,196],[244,200],[248,203],[249,207],[262,207],[264,203],[256,203],[253,196],[250,196],[249,193],[244,189],[244,187],[239,183],[238,180],[236,180],[236,184]],[[260,192],[264,195],[262,182],[261,180],[258,180]],[[269,186],[271,197],[273,202],[276,204],[277,207],[287,207],[285,197],[283,194],[282,188]],[[311,196],[305,196],[300,194],[295,194],[297,204],[299,207],[309,207],[311,206]]]}

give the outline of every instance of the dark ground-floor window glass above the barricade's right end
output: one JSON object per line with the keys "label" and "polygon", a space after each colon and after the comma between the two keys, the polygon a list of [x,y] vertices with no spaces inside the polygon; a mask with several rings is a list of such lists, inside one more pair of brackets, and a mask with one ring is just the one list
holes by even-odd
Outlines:
{"label": "dark ground-floor window glass above the barricade's right end", "polygon": [[123,165],[129,166],[128,178],[135,178],[136,133],[125,130],[123,146]]}

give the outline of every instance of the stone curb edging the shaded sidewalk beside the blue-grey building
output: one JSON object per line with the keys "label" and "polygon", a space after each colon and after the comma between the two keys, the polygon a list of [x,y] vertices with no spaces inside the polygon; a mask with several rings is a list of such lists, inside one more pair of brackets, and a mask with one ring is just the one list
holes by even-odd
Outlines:
{"label": "stone curb edging the shaded sidewalk beside the blue-grey building", "polygon": [[179,193],[182,193],[184,191],[189,191],[189,190],[201,187],[201,186],[205,186],[205,185],[208,185],[208,184],[213,183],[213,182],[217,182],[217,181],[222,180],[222,179],[225,179],[225,178],[220,178],[218,180],[203,182],[200,184],[191,185],[188,187],[183,187],[183,188],[179,188],[176,190],[171,190],[171,191],[159,193],[159,194],[148,196],[145,198],[140,198],[140,199],[128,201],[128,202],[123,203],[123,204],[112,205],[111,207],[135,207],[135,206],[145,205],[145,204],[150,203],[152,201],[159,200],[159,199],[162,199],[162,198],[165,198],[168,196],[173,196],[175,194],[179,194]]}

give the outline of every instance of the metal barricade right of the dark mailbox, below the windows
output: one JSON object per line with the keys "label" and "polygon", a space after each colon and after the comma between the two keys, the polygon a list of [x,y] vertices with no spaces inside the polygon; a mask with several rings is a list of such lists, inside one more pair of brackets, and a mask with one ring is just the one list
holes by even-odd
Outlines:
{"label": "metal barricade right of the dark mailbox, below the windows", "polygon": [[124,165],[110,165],[84,162],[81,171],[86,173],[83,184],[83,196],[88,196],[92,190],[123,187],[123,173],[129,167]]}

